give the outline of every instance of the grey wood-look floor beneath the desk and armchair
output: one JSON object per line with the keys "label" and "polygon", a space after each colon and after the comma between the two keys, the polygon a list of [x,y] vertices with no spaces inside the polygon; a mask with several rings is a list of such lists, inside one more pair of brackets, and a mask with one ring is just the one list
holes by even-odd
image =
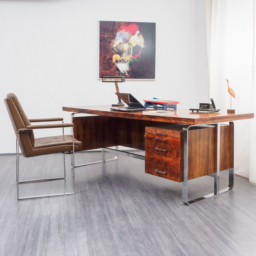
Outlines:
{"label": "grey wood-look floor beneath the desk and armchair", "polygon": [[[78,153],[76,164],[100,157]],[[21,196],[72,189],[69,158],[66,181],[22,184]],[[145,174],[142,160],[119,156],[76,168],[75,195],[18,201],[15,156],[0,156],[0,166],[1,256],[256,255],[256,186],[245,178],[235,175],[233,190],[188,206],[181,184]],[[59,154],[20,162],[24,179],[58,176],[61,167]],[[228,172],[220,178],[226,187]],[[188,184],[191,199],[213,191],[212,177]]]}

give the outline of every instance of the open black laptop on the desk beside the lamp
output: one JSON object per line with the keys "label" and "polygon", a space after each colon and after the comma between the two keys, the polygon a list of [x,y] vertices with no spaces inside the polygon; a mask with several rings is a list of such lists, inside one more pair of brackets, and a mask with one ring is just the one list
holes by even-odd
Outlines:
{"label": "open black laptop on the desk beside the lamp", "polygon": [[120,93],[115,92],[116,95],[121,98],[128,107],[119,107],[119,108],[110,108],[117,111],[125,111],[125,112],[132,112],[132,111],[144,111],[146,108],[136,100],[131,93]]}

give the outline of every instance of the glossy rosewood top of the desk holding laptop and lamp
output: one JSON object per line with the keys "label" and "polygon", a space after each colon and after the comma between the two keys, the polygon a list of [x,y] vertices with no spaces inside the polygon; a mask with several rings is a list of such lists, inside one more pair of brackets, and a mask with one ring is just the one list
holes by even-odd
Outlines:
{"label": "glossy rosewood top of the desk holding laptop and lamp", "polygon": [[110,110],[110,105],[102,106],[77,106],[77,107],[62,107],[63,111],[84,113],[100,116],[113,116],[130,119],[140,119],[156,122],[176,123],[176,124],[210,124],[219,122],[228,122],[242,119],[254,118],[253,113],[235,113],[228,114],[227,110],[220,111],[219,114],[209,114],[205,112],[192,112],[187,109],[167,110],[164,113],[150,114],[155,109],[146,109],[140,112],[121,112]]}

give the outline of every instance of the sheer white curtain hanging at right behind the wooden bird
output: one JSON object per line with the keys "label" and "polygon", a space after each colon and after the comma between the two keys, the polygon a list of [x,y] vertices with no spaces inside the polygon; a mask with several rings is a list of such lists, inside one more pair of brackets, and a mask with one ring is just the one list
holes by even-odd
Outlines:
{"label": "sheer white curtain hanging at right behind the wooden bird", "polygon": [[[209,96],[221,112],[230,109],[228,84],[235,91],[232,109],[255,113],[255,0],[206,0]],[[236,174],[256,183],[255,119],[235,121]]]}

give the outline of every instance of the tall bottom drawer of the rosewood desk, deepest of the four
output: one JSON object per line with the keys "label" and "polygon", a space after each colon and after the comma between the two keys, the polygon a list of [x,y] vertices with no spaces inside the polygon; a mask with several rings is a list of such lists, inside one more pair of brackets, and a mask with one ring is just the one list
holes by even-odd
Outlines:
{"label": "tall bottom drawer of the rosewood desk, deepest of the four", "polygon": [[169,180],[181,182],[181,160],[145,153],[145,172]]}

